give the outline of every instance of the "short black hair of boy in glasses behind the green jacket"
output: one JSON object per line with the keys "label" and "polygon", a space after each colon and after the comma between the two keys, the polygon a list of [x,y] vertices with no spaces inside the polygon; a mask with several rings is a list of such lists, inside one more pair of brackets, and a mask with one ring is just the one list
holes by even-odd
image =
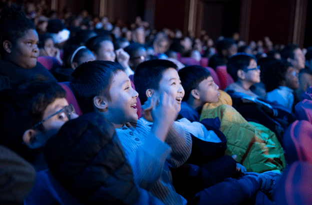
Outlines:
{"label": "short black hair of boy in glasses behind the green jacket", "polygon": [[228,59],[227,72],[235,82],[238,80],[237,71],[247,68],[252,59],[257,61],[254,55],[247,53],[237,53]]}

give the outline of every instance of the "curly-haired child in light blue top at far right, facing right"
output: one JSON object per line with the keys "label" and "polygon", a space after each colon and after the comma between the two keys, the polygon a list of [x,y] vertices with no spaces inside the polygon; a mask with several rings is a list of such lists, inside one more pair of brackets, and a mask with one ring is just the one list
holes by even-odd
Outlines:
{"label": "curly-haired child in light blue top at far right, facing right", "polygon": [[263,75],[266,100],[292,112],[293,92],[299,87],[298,71],[285,61],[272,60]]}

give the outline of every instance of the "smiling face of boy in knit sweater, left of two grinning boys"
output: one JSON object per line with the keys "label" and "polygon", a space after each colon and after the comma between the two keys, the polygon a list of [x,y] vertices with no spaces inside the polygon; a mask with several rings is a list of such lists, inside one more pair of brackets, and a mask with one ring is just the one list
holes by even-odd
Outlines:
{"label": "smiling face of boy in knit sweater, left of two grinning boys", "polygon": [[131,87],[127,74],[123,71],[112,76],[107,102],[107,119],[114,124],[124,124],[137,120],[136,98],[138,93]]}

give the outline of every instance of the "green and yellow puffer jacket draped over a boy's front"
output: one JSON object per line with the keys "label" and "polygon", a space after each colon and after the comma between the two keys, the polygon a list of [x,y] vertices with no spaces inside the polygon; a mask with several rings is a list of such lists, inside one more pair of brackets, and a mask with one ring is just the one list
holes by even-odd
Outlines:
{"label": "green and yellow puffer jacket draped over a boy's front", "polygon": [[226,136],[225,155],[236,155],[247,172],[262,173],[280,171],[285,167],[285,157],[275,134],[254,122],[247,122],[233,107],[220,105],[216,108],[203,107],[199,121],[218,117],[220,131]]}

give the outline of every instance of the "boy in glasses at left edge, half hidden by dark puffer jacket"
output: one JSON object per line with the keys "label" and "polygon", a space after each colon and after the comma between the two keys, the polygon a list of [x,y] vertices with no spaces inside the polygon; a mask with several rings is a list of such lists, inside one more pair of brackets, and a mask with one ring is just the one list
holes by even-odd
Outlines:
{"label": "boy in glasses at left edge, half hidden by dark puffer jacket", "polygon": [[42,147],[60,127],[78,117],[57,83],[28,81],[0,92],[0,144],[47,169]]}

